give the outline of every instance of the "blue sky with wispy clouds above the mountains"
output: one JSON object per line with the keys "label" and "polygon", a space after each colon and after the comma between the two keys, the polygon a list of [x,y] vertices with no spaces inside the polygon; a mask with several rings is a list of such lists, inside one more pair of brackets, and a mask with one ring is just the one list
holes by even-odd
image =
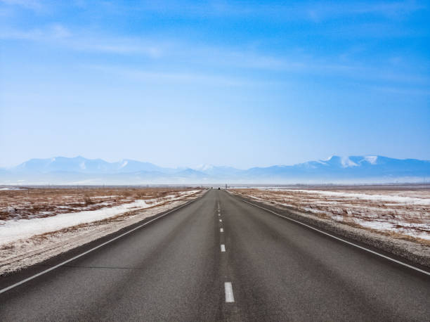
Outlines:
{"label": "blue sky with wispy clouds above the mountains", "polygon": [[428,1],[0,0],[0,167],[430,159]]}

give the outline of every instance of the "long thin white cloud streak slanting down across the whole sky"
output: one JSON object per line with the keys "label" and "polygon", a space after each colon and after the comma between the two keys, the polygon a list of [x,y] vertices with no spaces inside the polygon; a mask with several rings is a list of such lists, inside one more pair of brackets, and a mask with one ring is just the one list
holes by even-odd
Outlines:
{"label": "long thin white cloud streak slanting down across the whole sky", "polygon": [[[337,76],[344,79],[367,79],[377,82],[412,82],[415,84],[429,84],[429,77],[419,72],[412,72],[411,67],[400,70],[394,69],[391,60],[386,63],[372,65],[363,63],[359,57],[344,56],[322,58],[314,57],[304,52],[285,53],[283,56],[271,56],[256,50],[237,50],[228,47],[197,46],[179,41],[166,41],[162,39],[143,39],[132,37],[107,37],[103,34],[72,31],[60,24],[49,25],[34,30],[3,30],[0,39],[22,39],[36,41],[50,46],[63,46],[67,50],[86,51],[92,53],[114,54],[122,56],[145,56],[156,59],[168,65],[176,65],[182,70],[213,70],[222,68],[220,74],[234,74],[234,70],[266,70],[267,72],[288,72],[288,75],[320,75],[321,77]],[[415,63],[416,65],[416,63]],[[228,69],[228,70],[227,70]],[[204,73],[202,73],[203,75]],[[151,75],[145,75],[149,77]],[[281,75],[282,76],[282,75]],[[196,75],[152,75],[151,77],[164,77],[165,79],[187,79],[198,77]],[[202,77],[202,76],[200,76]],[[263,77],[252,75],[254,79],[269,79],[277,82],[279,77]],[[228,84],[243,83],[242,80],[222,79]],[[211,79],[215,82],[216,79]],[[205,82],[204,77],[202,82]],[[258,82],[258,81],[255,81]],[[261,82],[261,80],[259,80]]]}

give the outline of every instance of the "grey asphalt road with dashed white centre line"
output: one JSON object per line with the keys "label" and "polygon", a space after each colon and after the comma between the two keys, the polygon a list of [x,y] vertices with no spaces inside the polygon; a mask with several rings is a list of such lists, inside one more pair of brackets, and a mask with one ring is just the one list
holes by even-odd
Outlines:
{"label": "grey asphalt road with dashed white centre line", "polygon": [[429,319],[430,276],[218,190],[0,294],[0,321]]}

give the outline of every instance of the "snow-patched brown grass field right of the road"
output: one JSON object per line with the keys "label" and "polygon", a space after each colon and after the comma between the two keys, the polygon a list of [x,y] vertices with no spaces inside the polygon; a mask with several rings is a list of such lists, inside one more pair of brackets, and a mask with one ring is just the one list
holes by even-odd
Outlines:
{"label": "snow-patched brown grass field right of the road", "polygon": [[235,189],[235,193],[430,245],[429,190]]}

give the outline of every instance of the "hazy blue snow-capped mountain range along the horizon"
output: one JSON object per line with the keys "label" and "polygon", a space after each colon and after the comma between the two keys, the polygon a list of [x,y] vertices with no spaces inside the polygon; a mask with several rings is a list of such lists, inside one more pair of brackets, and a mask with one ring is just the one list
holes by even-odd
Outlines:
{"label": "hazy blue snow-capped mountain range along the horizon", "polygon": [[158,167],[149,162],[107,162],[84,157],[32,159],[0,169],[0,184],[154,184],[154,183],[374,183],[419,182],[430,178],[430,161],[379,155],[339,157],[297,165],[235,169],[201,165]]}

